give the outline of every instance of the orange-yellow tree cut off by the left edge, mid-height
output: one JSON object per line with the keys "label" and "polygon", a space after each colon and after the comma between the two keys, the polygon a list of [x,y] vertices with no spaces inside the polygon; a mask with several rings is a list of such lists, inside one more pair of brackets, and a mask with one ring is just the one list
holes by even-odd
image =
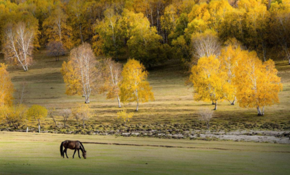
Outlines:
{"label": "orange-yellow tree cut off by the left edge, mid-height", "polygon": [[0,64],[0,107],[11,106],[13,100],[14,86],[11,82],[10,75],[6,70],[7,66]]}

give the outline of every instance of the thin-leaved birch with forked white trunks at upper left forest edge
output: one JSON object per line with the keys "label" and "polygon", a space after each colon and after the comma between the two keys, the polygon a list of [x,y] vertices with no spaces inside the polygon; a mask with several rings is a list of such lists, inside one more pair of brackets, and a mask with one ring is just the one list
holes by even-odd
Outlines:
{"label": "thin-leaved birch with forked white trunks at upper left forest edge", "polygon": [[4,38],[5,60],[18,64],[24,71],[28,71],[28,67],[32,64],[34,31],[27,28],[23,22],[16,25],[10,23],[5,29]]}

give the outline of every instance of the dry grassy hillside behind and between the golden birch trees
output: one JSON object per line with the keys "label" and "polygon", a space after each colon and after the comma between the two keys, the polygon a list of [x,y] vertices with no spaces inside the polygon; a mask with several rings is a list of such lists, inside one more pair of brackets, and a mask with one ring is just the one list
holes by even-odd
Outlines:
{"label": "dry grassy hillside behind and between the golden birch trees", "polygon": [[[40,104],[43,106],[61,108],[71,108],[83,103],[84,98],[80,96],[65,95],[65,84],[60,73],[60,68],[67,56],[60,58],[56,62],[54,58],[45,56],[45,51],[38,51],[34,55],[34,65],[30,70],[24,72],[18,67],[9,67],[12,82],[15,88],[19,84],[28,82],[28,93],[25,104]],[[3,59],[1,58],[1,62]],[[213,124],[236,124],[237,129],[241,124],[265,124],[270,122],[287,128],[290,125],[290,66],[287,61],[277,61],[276,67],[278,75],[282,78],[284,89],[280,93],[280,104],[267,106],[266,115],[258,117],[255,108],[240,108],[230,106],[229,102],[220,102],[219,109],[215,112]],[[185,86],[187,75],[179,65],[177,60],[170,60],[164,65],[154,67],[149,71],[148,80],[153,86],[155,102],[148,102],[140,105],[140,111],[135,113],[131,124],[161,124],[197,122],[199,110],[203,108],[214,108],[211,102],[194,102],[192,97],[192,87]],[[123,108],[129,111],[135,110],[135,103],[126,104],[118,108],[116,100],[106,100],[104,95],[91,97],[91,104],[94,110],[94,117],[89,121],[91,126],[95,124],[120,124],[116,119],[116,113]],[[58,119],[60,121],[60,118]],[[32,126],[36,122],[31,121]],[[47,127],[52,125],[51,119],[43,122]],[[69,125],[74,125],[75,121],[70,120]]]}

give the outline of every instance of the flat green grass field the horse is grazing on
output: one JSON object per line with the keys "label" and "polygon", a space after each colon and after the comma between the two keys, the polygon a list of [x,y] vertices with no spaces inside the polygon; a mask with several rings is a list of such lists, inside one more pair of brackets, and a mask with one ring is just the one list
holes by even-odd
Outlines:
{"label": "flat green grass field the horse is grazing on", "polygon": [[[147,146],[84,143],[87,159],[63,159],[65,139]],[[271,143],[0,132],[0,174],[290,174],[289,162],[290,146]]]}

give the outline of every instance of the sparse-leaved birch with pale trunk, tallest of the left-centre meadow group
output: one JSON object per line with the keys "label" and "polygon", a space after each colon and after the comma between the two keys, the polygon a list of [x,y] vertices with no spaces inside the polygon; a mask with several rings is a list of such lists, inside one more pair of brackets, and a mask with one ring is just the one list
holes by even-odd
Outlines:
{"label": "sparse-leaved birch with pale trunk, tallest of the left-centre meadow group", "polygon": [[82,95],[85,103],[96,93],[100,73],[96,65],[98,61],[93,54],[91,45],[84,43],[71,50],[68,62],[63,62],[61,73],[66,84],[67,95]]}

